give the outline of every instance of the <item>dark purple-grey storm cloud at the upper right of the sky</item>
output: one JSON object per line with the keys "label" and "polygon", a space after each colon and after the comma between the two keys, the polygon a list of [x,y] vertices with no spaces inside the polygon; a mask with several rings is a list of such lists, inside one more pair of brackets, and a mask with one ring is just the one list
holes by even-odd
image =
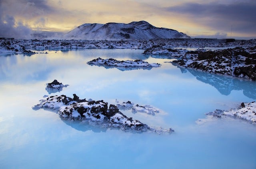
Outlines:
{"label": "dark purple-grey storm cloud at the upper right of the sky", "polygon": [[247,0],[231,4],[186,3],[166,8],[168,12],[185,15],[186,18],[214,30],[254,34],[256,36],[256,1]]}

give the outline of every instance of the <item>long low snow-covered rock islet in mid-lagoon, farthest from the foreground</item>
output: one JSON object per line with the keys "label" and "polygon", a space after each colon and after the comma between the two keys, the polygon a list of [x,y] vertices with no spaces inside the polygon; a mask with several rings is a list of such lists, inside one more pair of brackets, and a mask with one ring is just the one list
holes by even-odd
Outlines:
{"label": "long low snow-covered rock islet in mid-lagoon, farthest from the foreground", "polygon": [[160,64],[149,64],[148,62],[142,60],[126,60],[126,61],[119,61],[115,59],[102,59],[97,58],[87,62],[87,64],[93,66],[104,66],[105,68],[118,68],[119,70],[133,70],[133,69],[148,69],[150,70],[153,67],[160,67]]}

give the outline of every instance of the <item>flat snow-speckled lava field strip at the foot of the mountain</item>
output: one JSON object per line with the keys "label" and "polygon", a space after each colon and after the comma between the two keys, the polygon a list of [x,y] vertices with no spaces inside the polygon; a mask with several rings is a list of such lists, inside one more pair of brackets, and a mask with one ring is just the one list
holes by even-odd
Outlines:
{"label": "flat snow-speckled lava field strip at the foot of the mountain", "polygon": [[[30,50],[68,50],[68,49],[149,49],[152,46],[164,49],[174,47],[253,47],[256,40],[223,43],[217,39],[152,39],[152,40],[19,40],[0,39],[0,54],[31,55]],[[161,53],[161,52],[160,52]],[[162,52],[163,54],[163,52]]]}

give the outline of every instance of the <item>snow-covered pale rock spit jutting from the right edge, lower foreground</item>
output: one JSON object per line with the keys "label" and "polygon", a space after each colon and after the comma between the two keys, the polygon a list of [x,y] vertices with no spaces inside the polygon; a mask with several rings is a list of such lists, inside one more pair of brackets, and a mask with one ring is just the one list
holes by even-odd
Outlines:
{"label": "snow-covered pale rock spit jutting from the right edge, lower foreground", "polygon": [[248,121],[249,123],[256,123],[256,103],[253,101],[251,103],[241,103],[240,107],[237,109],[230,109],[228,111],[215,110],[206,115],[212,115],[214,117],[221,118],[222,116],[232,117],[236,119],[242,119]]}

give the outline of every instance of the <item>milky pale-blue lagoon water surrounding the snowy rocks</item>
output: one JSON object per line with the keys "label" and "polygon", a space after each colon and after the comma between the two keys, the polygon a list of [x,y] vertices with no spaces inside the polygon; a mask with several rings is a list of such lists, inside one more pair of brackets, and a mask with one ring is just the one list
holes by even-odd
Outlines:
{"label": "milky pale-blue lagoon water surrounding the snowy rocks", "polygon": [[[143,50],[48,51],[0,56],[0,168],[255,169],[256,126],[237,119],[205,119],[204,113],[256,100],[256,83],[180,69]],[[106,69],[95,58],[142,59],[151,70]],[[166,57],[168,58],[168,57]],[[110,103],[132,101],[162,111],[154,116],[122,111],[172,134],[132,133],[63,121],[33,110],[54,79],[59,93]]]}

